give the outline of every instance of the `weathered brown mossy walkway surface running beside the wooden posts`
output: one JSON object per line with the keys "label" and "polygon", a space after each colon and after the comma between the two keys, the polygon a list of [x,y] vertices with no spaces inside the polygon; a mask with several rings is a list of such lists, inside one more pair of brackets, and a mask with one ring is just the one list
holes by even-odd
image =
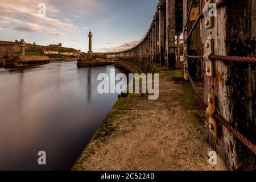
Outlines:
{"label": "weathered brown mossy walkway surface running beside the wooden posts", "polygon": [[72,170],[227,170],[220,157],[209,164],[204,110],[183,70],[159,73],[158,100],[119,99]]}

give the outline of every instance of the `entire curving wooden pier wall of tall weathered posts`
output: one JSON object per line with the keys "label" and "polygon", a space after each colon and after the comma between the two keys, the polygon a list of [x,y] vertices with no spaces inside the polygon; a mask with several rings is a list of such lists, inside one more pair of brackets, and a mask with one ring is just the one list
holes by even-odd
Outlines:
{"label": "entire curving wooden pier wall of tall weathered posts", "polygon": [[[210,2],[218,5],[212,18],[208,18]],[[177,60],[184,60],[184,80],[188,80],[189,73],[192,80],[203,82],[204,104],[210,105],[209,94],[216,97],[218,114],[255,145],[255,64],[210,58],[210,55],[229,59],[230,56],[255,57],[255,9],[253,0],[159,0],[142,40],[130,49],[108,53],[108,57],[150,72],[155,63],[175,70],[179,63],[176,52]],[[181,43],[184,43],[184,56],[179,59]],[[246,147],[246,142],[241,142],[232,129],[219,121],[214,129],[210,128],[209,120],[208,115],[205,133],[228,168],[255,170],[256,155]]]}

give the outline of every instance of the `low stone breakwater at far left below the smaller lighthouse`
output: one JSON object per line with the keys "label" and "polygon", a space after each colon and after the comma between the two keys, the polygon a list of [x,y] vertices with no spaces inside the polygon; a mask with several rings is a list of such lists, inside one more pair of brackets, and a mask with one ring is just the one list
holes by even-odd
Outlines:
{"label": "low stone breakwater at far left below the smaller lighthouse", "polygon": [[15,56],[5,60],[5,68],[22,68],[49,63],[48,56]]}

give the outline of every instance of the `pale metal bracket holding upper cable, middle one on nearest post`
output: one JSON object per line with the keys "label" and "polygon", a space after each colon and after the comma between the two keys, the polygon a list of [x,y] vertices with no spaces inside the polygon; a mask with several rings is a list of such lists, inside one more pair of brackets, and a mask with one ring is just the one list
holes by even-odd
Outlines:
{"label": "pale metal bracket holding upper cable, middle one on nearest post", "polygon": [[204,60],[205,60],[205,73],[207,76],[213,77],[214,71],[213,71],[213,60],[210,59],[210,56],[213,55],[213,39],[208,39],[207,42],[205,42],[205,54],[204,54]]}

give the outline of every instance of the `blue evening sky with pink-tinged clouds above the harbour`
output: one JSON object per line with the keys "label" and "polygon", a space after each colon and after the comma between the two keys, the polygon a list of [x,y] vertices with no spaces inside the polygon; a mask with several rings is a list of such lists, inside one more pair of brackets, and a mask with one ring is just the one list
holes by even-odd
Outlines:
{"label": "blue evening sky with pink-tinged clouds above the harbour", "polygon": [[[40,16],[46,5],[46,16]],[[1,0],[0,40],[24,39],[48,46],[62,43],[93,52],[113,52],[134,46],[146,33],[158,0]]]}

